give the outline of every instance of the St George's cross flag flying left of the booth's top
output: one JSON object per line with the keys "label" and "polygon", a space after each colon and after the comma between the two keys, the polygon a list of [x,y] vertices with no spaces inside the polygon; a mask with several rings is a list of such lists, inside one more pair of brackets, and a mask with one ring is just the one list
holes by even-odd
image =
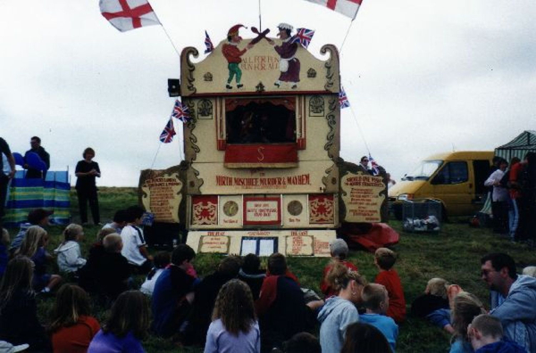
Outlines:
{"label": "St George's cross flag flying left of the booth's top", "polygon": [[105,19],[121,32],[161,24],[147,0],[100,0],[99,7]]}

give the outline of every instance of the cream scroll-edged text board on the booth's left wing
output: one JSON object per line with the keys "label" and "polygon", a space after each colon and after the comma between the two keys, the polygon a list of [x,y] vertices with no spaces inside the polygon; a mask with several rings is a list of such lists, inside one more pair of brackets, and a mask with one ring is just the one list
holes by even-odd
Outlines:
{"label": "cream scroll-edged text board on the booth's left wing", "polygon": [[179,223],[181,190],[179,173],[151,170],[141,183],[141,201],[147,212],[155,215],[155,222]]}

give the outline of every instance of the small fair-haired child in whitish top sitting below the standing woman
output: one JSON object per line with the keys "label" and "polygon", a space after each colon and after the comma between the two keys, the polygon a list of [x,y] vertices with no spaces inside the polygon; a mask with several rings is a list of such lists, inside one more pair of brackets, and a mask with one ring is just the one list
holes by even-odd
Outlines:
{"label": "small fair-haired child in whitish top sitting below the standing woman", "polygon": [[57,255],[58,267],[63,272],[77,272],[80,267],[86,265],[86,259],[82,258],[78,243],[84,237],[84,229],[82,226],[72,223],[63,231],[63,237],[63,242],[54,250],[54,254]]}

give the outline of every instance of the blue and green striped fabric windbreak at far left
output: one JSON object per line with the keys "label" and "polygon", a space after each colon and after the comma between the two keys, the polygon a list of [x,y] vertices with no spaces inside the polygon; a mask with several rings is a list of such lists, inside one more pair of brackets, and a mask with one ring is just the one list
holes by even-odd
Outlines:
{"label": "blue and green striped fabric windbreak at far left", "polygon": [[66,225],[71,221],[71,184],[69,171],[46,172],[46,179],[27,179],[25,171],[18,170],[8,188],[4,226],[15,227],[28,222],[32,209],[54,211],[50,222]]}

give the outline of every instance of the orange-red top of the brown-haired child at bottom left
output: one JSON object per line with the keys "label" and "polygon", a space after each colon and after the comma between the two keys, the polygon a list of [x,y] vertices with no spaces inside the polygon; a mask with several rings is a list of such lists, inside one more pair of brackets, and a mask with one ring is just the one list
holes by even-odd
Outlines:
{"label": "orange-red top of the brown-haired child at bottom left", "polygon": [[77,324],[62,327],[52,334],[54,353],[86,353],[98,330],[100,324],[95,317],[80,316]]}

